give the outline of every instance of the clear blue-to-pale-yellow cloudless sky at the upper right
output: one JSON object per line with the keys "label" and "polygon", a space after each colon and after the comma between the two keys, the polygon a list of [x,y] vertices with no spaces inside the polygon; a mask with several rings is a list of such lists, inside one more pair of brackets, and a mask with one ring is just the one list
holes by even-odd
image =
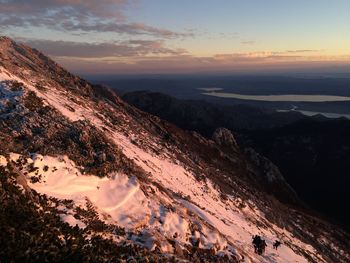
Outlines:
{"label": "clear blue-to-pale-yellow cloudless sky at the upper right", "polygon": [[[350,44],[350,1],[346,0],[149,0],[128,14],[133,20],[174,31],[193,29],[198,36],[187,39],[188,45],[195,49],[204,40],[208,53],[220,51],[220,46],[225,51],[347,51]],[[249,47],[241,42],[250,43]]]}

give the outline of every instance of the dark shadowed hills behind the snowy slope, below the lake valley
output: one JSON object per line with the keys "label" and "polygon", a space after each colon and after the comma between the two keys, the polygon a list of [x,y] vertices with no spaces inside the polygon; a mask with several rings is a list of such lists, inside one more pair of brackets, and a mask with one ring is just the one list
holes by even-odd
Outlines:
{"label": "dark shadowed hills behind the snowy slope, below the lake valley", "polygon": [[[248,148],[247,157],[252,157],[251,148],[263,154],[278,166],[307,206],[350,230],[346,212],[349,208],[349,120],[179,100],[147,91],[126,93],[122,98],[206,138],[211,138],[217,127],[232,130],[241,148]],[[283,193],[278,195],[280,200],[288,201],[283,196]]]}

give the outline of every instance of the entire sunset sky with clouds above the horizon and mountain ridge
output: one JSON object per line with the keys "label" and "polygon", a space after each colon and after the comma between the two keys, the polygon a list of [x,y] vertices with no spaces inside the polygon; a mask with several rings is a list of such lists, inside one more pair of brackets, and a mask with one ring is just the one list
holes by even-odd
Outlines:
{"label": "entire sunset sky with clouds above the horizon and mountain ridge", "polygon": [[0,33],[78,74],[350,72],[348,0],[0,0]]}

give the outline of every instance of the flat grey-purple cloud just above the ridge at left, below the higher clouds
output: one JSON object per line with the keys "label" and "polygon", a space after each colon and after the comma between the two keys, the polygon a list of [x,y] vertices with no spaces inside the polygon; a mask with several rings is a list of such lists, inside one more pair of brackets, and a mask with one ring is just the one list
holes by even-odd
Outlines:
{"label": "flat grey-purple cloud just above the ridge at left, below the higher clouds", "polygon": [[186,53],[186,50],[184,49],[171,49],[165,47],[164,41],[161,40],[128,40],[114,43],[85,43],[22,39],[22,42],[54,57],[106,58],[140,57],[148,55],[178,56]]}

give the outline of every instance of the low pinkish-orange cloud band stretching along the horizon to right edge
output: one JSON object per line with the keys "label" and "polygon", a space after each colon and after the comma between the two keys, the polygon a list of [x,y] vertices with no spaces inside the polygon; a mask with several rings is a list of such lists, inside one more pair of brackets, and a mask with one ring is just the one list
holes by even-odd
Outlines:
{"label": "low pinkish-orange cloud band stretching along the horizon to right edge", "polygon": [[275,52],[218,54],[195,57],[189,54],[159,56],[109,57],[104,60],[58,58],[78,74],[148,74],[148,73],[257,73],[313,70],[350,65],[350,56],[301,56]]}

